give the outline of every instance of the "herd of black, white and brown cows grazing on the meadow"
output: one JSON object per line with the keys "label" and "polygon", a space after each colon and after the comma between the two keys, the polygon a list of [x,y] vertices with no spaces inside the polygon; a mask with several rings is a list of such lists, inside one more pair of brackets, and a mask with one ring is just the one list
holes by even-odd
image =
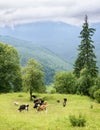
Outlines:
{"label": "herd of black, white and brown cows grazing on the meadow", "polygon": [[[35,95],[32,95],[33,97],[33,108],[38,111],[47,111],[47,106],[48,106],[48,102],[42,98],[37,98],[37,96]],[[60,100],[57,100],[56,101],[57,103],[60,103]],[[66,103],[67,103],[67,98],[64,98],[63,99],[63,103],[62,103],[62,106],[65,107],[66,106]],[[19,105],[18,102],[14,102],[14,104],[16,106],[19,106],[18,110],[19,112],[23,111],[23,110],[26,110],[28,111],[29,110],[29,104],[21,104]]]}

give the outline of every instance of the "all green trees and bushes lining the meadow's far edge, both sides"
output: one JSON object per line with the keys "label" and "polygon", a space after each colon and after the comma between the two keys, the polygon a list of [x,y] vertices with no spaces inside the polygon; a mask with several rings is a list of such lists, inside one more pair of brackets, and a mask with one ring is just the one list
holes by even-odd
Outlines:
{"label": "all green trees and bushes lining the meadow's far edge, both sides", "polygon": [[[94,28],[89,27],[86,15],[79,36],[81,43],[73,72],[64,71],[54,75],[56,92],[77,93],[92,98],[100,94],[100,77],[92,40],[94,31]],[[43,66],[37,60],[29,59],[27,64],[21,67],[17,50],[0,43],[0,93],[23,90],[30,92],[30,99],[32,92],[45,92]]]}

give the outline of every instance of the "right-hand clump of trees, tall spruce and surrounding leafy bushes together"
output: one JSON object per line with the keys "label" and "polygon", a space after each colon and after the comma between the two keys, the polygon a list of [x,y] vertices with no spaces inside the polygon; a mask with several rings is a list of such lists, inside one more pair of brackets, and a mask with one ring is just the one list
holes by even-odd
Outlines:
{"label": "right-hand clump of trees, tall spruce and surrounding leafy bushes together", "polygon": [[54,77],[57,92],[88,95],[100,102],[100,76],[92,40],[94,31],[94,28],[89,27],[86,15],[79,36],[81,43],[78,46],[79,53],[73,66],[73,72],[60,72]]}

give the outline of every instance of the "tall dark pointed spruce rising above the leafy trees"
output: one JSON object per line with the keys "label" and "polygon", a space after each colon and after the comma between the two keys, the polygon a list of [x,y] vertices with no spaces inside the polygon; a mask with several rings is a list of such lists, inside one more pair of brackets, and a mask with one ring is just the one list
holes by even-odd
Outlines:
{"label": "tall dark pointed spruce rising above the leafy trees", "polygon": [[88,70],[88,74],[91,78],[97,77],[98,75],[96,56],[94,54],[95,46],[93,45],[94,41],[91,38],[94,31],[94,28],[89,28],[88,17],[86,15],[82,31],[80,32],[81,44],[78,48],[79,54],[74,64],[74,74],[78,78],[80,77],[81,70],[84,68]]}

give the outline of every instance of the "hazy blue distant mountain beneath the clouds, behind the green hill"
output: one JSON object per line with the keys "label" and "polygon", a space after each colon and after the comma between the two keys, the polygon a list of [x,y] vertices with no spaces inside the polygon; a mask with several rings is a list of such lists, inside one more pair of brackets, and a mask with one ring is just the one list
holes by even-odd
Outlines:
{"label": "hazy blue distant mountain beneath the clouds, behind the green hill", "polygon": [[[99,60],[100,24],[89,24],[89,27],[96,29],[93,40],[96,47],[97,59]],[[72,26],[62,22],[47,21],[17,25],[14,28],[0,27],[0,34],[32,41],[36,45],[49,49],[57,56],[73,64],[77,57],[77,48],[81,40],[79,38],[81,29],[82,27]]]}

